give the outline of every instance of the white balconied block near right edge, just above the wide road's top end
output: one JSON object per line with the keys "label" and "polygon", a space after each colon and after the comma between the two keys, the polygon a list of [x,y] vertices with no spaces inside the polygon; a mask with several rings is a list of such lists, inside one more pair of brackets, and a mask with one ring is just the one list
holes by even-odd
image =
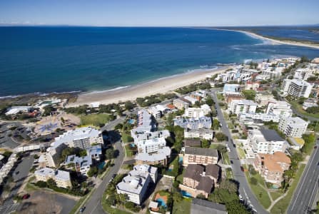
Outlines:
{"label": "white balconied block near right edge, just above the wide road's top end", "polygon": [[299,117],[282,117],[278,125],[280,131],[293,138],[301,138],[307,131],[307,127],[308,122]]}

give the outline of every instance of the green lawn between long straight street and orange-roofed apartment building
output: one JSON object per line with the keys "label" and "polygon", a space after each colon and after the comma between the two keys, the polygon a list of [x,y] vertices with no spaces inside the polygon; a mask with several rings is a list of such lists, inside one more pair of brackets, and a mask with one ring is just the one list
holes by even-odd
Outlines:
{"label": "green lawn between long straight street and orange-roofed apartment building", "polygon": [[[263,189],[260,185],[263,185],[265,187],[265,183],[263,182],[263,178],[257,173],[255,175],[250,174],[249,172],[245,172],[246,178],[248,178],[248,183],[250,185],[251,190],[253,190],[253,193],[255,194],[255,197],[257,200],[259,200],[259,203],[263,205],[264,208],[268,208],[271,204],[270,198],[268,196],[268,193],[265,189]],[[250,181],[250,178],[256,178],[258,180],[257,185],[253,185]],[[260,185],[259,185],[260,184]]]}

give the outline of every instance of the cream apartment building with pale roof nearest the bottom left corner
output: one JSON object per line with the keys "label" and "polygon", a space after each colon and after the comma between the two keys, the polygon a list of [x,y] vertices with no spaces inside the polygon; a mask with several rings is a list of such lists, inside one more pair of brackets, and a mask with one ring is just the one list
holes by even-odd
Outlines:
{"label": "cream apartment building with pale roof nearest the bottom left corner", "polygon": [[36,175],[36,181],[45,181],[52,178],[56,182],[56,186],[61,188],[71,188],[70,173],[64,170],[54,170],[51,168],[41,168],[34,172]]}

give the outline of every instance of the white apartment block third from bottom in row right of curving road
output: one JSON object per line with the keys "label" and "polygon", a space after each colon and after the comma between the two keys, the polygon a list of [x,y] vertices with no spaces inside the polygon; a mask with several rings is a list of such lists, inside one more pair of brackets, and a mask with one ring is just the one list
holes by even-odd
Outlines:
{"label": "white apartment block third from bottom in row right of curving road", "polygon": [[165,138],[151,138],[145,141],[135,142],[138,148],[138,153],[155,153],[160,148],[166,146]]}

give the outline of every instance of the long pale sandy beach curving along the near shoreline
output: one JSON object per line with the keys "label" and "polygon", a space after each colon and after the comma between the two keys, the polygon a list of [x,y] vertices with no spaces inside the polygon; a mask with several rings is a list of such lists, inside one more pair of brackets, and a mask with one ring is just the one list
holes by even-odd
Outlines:
{"label": "long pale sandy beach curving along the near shoreline", "polygon": [[176,88],[188,86],[191,83],[201,81],[207,77],[211,77],[216,73],[223,73],[228,68],[233,66],[226,66],[217,68],[215,70],[207,71],[193,71],[191,73],[183,73],[175,76],[161,78],[155,81],[141,83],[137,86],[129,86],[115,91],[101,91],[95,93],[81,93],[75,103],[69,103],[67,107],[80,106],[83,104],[90,104],[99,102],[101,104],[118,103],[123,101],[135,101],[138,97],[150,96],[156,93],[167,93]]}

